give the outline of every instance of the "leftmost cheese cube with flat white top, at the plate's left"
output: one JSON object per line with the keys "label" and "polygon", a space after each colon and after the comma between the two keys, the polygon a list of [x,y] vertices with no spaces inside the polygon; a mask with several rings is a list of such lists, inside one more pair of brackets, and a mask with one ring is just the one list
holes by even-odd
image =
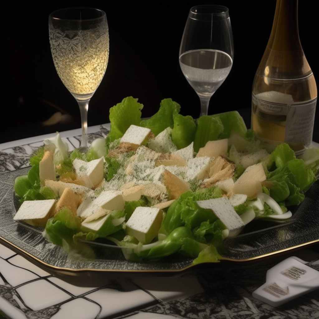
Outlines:
{"label": "leftmost cheese cube with flat white top, at the plate's left", "polygon": [[54,199],[24,201],[13,219],[23,220],[32,226],[45,227],[54,214],[55,204]]}

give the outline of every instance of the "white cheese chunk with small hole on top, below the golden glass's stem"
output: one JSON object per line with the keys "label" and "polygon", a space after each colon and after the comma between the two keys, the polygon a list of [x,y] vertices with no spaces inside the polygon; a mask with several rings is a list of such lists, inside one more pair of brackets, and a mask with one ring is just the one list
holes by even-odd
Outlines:
{"label": "white cheese chunk with small hole on top, below the golden glass's stem", "polygon": [[82,177],[87,175],[93,187],[96,187],[102,182],[104,175],[104,157],[100,159],[94,159],[90,162],[86,162],[81,159],[75,159],[73,161],[73,167],[78,176]]}

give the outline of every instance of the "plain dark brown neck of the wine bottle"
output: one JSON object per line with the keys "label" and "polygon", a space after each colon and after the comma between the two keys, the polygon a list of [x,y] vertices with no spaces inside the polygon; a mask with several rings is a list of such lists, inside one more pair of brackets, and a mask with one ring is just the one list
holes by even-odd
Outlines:
{"label": "plain dark brown neck of the wine bottle", "polygon": [[298,32],[298,0],[277,0],[267,48],[275,51],[302,51]]}

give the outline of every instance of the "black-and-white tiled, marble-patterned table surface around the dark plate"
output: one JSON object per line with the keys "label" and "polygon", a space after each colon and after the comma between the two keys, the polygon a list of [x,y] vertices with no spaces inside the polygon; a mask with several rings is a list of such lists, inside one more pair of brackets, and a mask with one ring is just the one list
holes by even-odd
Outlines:
{"label": "black-and-white tiled, marble-patterned table surface around the dark plate", "polygon": [[[89,128],[89,142],[105,137],[108,129],[109,124]],[[70,151],[79,146],[79,134],[80,130],[61,133]],[[0,145],[0,173],[28,167],[33,151],[54,135]],[[295,256],[319,270],[315,250],[303,249]],[[278,308],[252,297],[265,282],[267,270],[286,257],[214,271],[203,268],[176,278],[110,278],[102,287],[78,287],[0,244],[0,318],[319,318],[319,290]]]}

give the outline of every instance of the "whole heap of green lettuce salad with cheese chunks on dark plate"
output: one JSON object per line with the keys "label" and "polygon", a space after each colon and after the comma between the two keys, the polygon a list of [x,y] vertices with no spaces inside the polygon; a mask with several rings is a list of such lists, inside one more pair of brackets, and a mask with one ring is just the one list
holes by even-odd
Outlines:
{"label": "whole heap of green lettuce salad with cheese chunks on dark plate", "polygon": [[73,256],[94,258],[85,242],[105,241],[129,261],[217,262],[227,236],[254,219],[286,221],[316,181],[318,149],[268,153],[237,111],[193,119],[165,99],[141,120],[142,108],[132,97],[111,108],[108,136],[85,154],[58,133],[45,140],[15,180],[14,219]]}

